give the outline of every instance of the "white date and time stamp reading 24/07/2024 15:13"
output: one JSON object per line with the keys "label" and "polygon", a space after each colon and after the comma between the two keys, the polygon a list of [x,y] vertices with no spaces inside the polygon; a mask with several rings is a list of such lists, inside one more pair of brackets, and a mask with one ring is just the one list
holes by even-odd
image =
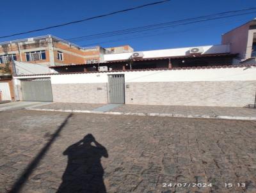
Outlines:
{"label": "white date and time stamp reading 24/07/2024 15:13", "polygon": [[[163,183],[163,187],[212,187],[212,183]],[[223,187],[246,187],[245,183],[223,183]]]}

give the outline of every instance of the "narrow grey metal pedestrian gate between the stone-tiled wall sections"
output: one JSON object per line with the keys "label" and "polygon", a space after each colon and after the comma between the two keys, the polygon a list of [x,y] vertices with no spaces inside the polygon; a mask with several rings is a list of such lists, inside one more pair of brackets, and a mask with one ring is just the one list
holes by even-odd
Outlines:
{"label": "narrow grey metal pedestrian gate between the stone-tiled wall sections", "polygon": [[124,74],[108,75],[108,102],[124,104]]}

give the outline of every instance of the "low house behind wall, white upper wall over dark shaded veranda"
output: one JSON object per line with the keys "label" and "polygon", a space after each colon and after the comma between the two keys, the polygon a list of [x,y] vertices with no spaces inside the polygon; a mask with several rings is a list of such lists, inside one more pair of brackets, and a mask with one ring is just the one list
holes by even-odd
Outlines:
{"label": "low house behind wall, white upper wall over dark shaded veranda", "polygon": [[[198,53],[191,50],[198,49]],[[186,68],[198,66],[231,65],[236,54],[230,54],[230,45],[207,45],[179,49],[148,50],[104,54],[104,62],[97,64],[59,65],[50,68],[60,73],[154,68]]]}

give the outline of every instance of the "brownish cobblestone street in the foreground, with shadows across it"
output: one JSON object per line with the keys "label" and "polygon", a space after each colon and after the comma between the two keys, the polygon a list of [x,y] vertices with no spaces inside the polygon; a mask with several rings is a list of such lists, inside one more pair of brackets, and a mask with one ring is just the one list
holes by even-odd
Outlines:
{"label": "brownish cobblestone street in the foreground, with shadows across it", "polygon": [[0,112],[0,192],[256,192],[256,121],[68,116]]}

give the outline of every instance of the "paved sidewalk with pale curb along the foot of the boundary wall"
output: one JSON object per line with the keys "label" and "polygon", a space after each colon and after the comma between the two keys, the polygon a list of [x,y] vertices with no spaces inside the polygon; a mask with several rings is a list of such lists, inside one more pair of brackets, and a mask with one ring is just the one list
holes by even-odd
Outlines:
{"label": "paved sidewalk with pale curb along the foot of the boundary wall", "polygon": [[27,109],[37,111],[86,112],[97,114],[124,114],[182,118],[217,118],[227,120],[256,121],[256,109],[243,107],[52,103]]}

